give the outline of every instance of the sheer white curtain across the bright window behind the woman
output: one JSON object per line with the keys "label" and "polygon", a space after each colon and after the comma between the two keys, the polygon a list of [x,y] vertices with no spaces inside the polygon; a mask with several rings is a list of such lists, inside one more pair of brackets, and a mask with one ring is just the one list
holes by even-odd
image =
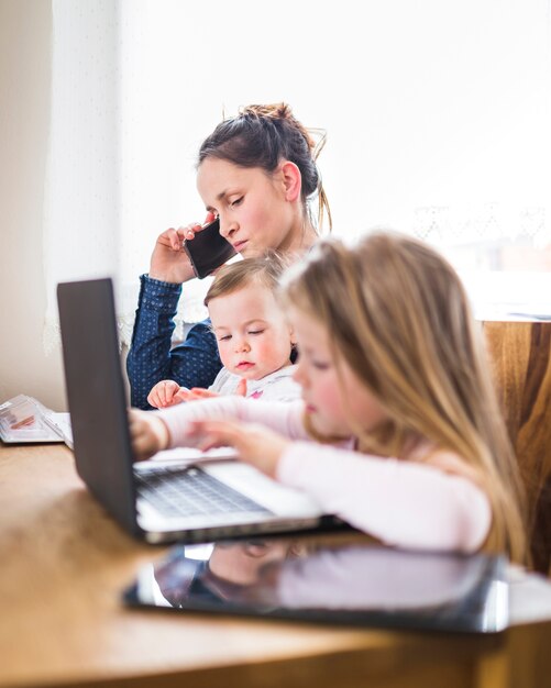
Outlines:
{"label": "sheer white curtain across the bright window behind the woman", "polygon": [[[223,113],[279,100],[328,132],[338,235],[417,234],[478,306],[551,312],[550,0],[53,8],[46,342],[55,285],[107,274],[128,342],[155,237],[203,219],[201,140]],[[184,320],[203,317],[205,288],[186,286]]]}

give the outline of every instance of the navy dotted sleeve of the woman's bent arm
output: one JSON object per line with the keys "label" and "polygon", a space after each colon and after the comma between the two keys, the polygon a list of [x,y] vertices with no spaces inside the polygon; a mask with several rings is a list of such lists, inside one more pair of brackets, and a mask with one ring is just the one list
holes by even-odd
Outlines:
{"label": "navy dotted sleeve of the woman's bent arm", "polygon": [[151,409],[154,385],[172,379],[181,387],[209,387],[222,364],[208,321],[191,328],[186,341],[170,348],[181,285],[142,276],[132,343],[126,358],[131,404]]}

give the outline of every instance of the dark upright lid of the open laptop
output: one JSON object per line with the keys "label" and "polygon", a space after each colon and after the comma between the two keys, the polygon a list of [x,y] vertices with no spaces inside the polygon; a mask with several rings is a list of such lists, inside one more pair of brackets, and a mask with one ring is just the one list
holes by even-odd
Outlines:
{"label": "dark upright lid of the open laptop", "polygon": [[139,534],[112,281],[59,284],[57,303],[78,475],[129,532]]}

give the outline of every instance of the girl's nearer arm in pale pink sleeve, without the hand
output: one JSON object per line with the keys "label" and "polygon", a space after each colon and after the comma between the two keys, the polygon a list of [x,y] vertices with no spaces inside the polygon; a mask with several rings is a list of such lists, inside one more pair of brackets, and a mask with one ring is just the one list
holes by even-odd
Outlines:
{"label": "girl's nearer arm in pale pink sleeve, without the hand", "polygon": [[395,546],[474,552],[492,523],[482,488],[415,462],[293,443],[276,477],[307,491],[328,513]]}

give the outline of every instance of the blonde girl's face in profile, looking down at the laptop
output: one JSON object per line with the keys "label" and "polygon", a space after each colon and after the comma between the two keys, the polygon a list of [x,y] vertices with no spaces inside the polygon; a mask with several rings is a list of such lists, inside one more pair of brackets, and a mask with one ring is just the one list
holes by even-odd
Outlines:
{"label": "blonde girl's face in profile, looking down at the laptop", "polygon": [[350,437],[357,425],[370,432],[387,420],[387,413],[346,362],[334,359],[326,328],[296,309],[291,309],[290,322],[299,352],[294,377],[302,387],[313,429],[322,435]]}

